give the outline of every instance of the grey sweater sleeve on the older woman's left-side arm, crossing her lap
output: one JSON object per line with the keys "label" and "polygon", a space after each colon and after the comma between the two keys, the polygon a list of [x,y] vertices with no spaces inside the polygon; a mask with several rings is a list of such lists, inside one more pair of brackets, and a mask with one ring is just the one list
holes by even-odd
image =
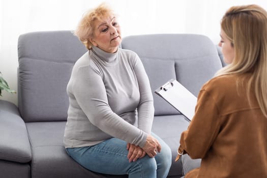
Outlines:
{"label": "grey sweater sleeve on the older woman's left-side arm, crossing her lap", "polygon": [[111,110],[100,71],[92,66],[80,67],[74,78],[75,99],[94,126],[112,137],[144,146],[147,134]]}

